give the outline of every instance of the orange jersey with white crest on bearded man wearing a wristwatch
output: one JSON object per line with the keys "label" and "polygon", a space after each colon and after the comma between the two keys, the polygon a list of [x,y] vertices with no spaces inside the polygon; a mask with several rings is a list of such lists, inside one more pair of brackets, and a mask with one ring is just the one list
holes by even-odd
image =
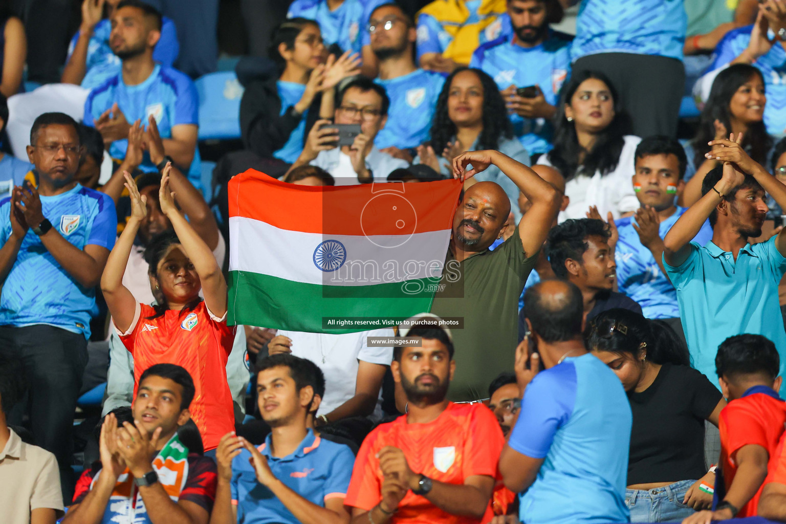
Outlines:
{"label": "orange jersey with white crest on bearded man wearing a wristwatch", "polygon": [[[387,445],[404,452],[412,471],[439,482],[464,484],[472,475],[496,476],[505,438],[486,406],[451,402],[432,422],[410,424],[406,418],[380,424],[365,438],[354,462],[345,505],[371,511],[380,503],[382,471],[376,453]],[[489,522],[493,516],[490,503],[483,519],[472,519],[450,515],[408,491],[391,522],[468,524]]]}

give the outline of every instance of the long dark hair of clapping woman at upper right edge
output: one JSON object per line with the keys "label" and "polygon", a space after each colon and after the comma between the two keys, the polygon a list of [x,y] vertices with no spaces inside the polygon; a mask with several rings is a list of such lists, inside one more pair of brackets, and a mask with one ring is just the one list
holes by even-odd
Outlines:
{"label": "long dark hair of clapping woman at upper right edge", "polygon": [[[729,111],[729,103],[736,90],[740,89],[740,86],[754,75],[758,76],[764,83],[762,71],[748,64],[730,65],[715,77],[714,82],[712,82],[710,96],[707,98],[707,104],[704,104],[704,109],[701,112],[699,132],[691,143],[693,151],[696,152],[693,156],[693,164],[696,167],[703,163],[704,155],[710,151],[710,146],[707,145],[707,142],[715,138],[715,120],[720,120],[726,130],[731,133],[732,114]],[[748,126],[747,133],[744,134],[742,139],[742,145],[749,152],[752,159],[762,164],[762,166],[766,166],[767,153],[773,146],[773,139],[767,133],[764,120],[751,123]]]}

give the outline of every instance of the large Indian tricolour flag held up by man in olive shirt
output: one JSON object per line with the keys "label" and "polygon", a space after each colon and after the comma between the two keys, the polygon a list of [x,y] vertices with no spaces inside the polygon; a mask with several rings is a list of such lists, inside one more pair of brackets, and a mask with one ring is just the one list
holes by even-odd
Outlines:
{"label": "large Indian tricolour flag held up by man in olive shirt", "polygon": [[232,178],[230,324],[348,333],[431,308],[461,181]]}

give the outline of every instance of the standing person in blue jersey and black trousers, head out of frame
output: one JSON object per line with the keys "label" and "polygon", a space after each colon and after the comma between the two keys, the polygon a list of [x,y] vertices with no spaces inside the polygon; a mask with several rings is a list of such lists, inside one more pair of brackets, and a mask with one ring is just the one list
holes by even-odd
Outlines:
{"label": "standing person in blue jersey and black trousers, head out of frame", "polygon": [[573,71],[608,76],[632,134],[674,136],[685,90],[684,0],[570,0],[578,2]]}

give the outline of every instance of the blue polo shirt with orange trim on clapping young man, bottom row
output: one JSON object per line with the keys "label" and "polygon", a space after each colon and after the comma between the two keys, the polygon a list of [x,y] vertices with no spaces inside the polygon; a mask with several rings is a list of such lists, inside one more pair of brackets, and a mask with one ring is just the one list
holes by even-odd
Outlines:
{"label": "blue polo shirt with orange trim on clapping young man, bottom row", "polygon": [[[267,435],[259,452],[267,457],[273,475],[292,491],[323,507],[325,500],[347,496],[354,467],[354,454],[348,446],[317,437],[309,429],[295,453],[277,458],[270,456],[270,437]],[[281,500],[257,482],[250,458],[251,453],[244,449],[232,460],[232,504],[237,506],[237,522],[299,524]]]}

